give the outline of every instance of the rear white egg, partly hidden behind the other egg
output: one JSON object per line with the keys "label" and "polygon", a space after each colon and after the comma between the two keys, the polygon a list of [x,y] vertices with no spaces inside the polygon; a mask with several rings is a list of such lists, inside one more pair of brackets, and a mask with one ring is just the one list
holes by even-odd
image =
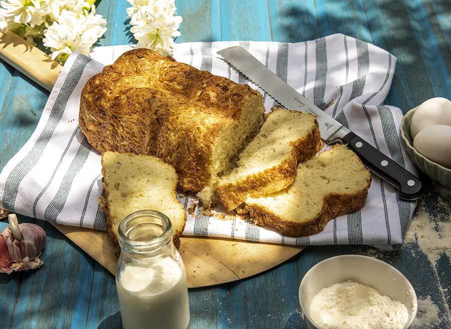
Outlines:
{"label": "rear white egg, partly hidden behind the other egg", "polygon": [[416,108],[410,122],[412,138],[415,138],[416,134],[422,129],[434,124],[451,126],[451,101],[446,98],[431,98]]}

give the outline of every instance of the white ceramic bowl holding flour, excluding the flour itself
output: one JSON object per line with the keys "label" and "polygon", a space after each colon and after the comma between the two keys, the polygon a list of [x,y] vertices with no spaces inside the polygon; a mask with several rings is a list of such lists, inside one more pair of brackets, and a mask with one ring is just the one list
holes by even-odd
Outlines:
{"label": "white ceramic bowl holding flour, excluding the flour itself", "polygon": [[343,255],[331,257],[313,266],[299,286],[299,303],[304,312],[308,329],[322,329],[310,316],[310,305],[321,289],[335,283],[352,280],[369,285],[383,295],[405,305],[409,317],[404,329],[410,327],[417,311],[415,290],[401,272],[387,263],[373,257]]}

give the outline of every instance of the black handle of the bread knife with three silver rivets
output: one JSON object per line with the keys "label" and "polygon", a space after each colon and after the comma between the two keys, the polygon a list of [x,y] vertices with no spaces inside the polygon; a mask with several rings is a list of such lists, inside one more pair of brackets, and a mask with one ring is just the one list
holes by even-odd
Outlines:
{"label": "black handle of the bread knife with three silver rivets", "polygon": [[398,189],[401,199],[413,201],[421,197],[423,188],[420,180],[395,161],[352,131],[347,133],[342,140],[359,155],[370,171]]}

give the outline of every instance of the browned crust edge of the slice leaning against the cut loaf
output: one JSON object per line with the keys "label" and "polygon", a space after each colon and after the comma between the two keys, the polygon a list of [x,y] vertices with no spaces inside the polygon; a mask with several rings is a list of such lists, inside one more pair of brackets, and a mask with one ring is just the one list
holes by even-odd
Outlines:
{"label": "browned crust edge of the slice leaning against the cut loaf", "polygon": [[313,129],[303,138],[290,143],[290,155],[278,166],[247,176],[236,183],[217,184],[216,195],[228,211],[233,211],[249,196],[257,198],[282,191],[296,179],[297,166],[314,156],[323,147],[318,122],[315,118]]}

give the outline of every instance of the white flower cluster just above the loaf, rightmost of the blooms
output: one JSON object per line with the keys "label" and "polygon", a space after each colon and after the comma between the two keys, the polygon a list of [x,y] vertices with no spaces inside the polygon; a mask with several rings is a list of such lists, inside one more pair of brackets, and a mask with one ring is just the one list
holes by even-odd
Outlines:
{"label": "white flower cluster just above the loaf, rightmost of the blooms", "polygon": [[175,15],[174,0],[127,0],[132,7],[127,9],[132,25],[130,32],[138,41],[136,47],[149,48],[163,56],[172,55],[174,40],[180,36],[178,28],[182,22]]}

